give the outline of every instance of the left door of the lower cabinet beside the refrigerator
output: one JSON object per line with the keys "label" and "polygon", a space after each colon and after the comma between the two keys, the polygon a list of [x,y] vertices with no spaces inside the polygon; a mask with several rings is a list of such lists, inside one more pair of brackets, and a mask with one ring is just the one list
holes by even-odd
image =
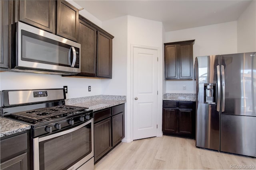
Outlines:
{"label": "left door of the lower cabinet beside the refrigerator", "polygon": [[177,131],[177,115],[176,109],[163,109],[162,131],[164,133],[176,133]]}

